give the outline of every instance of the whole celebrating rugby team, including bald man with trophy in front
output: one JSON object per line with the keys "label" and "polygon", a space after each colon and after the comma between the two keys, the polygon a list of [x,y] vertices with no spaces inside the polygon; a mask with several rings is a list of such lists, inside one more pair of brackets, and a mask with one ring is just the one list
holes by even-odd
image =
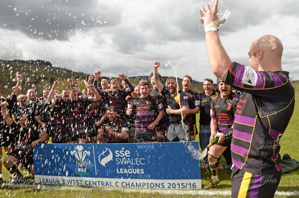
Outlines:
{"label": "whole celebrating rugby team, including bald man with trophy in front", "polygon": [[[163,85],[159,62],[153,63],[151,86],[144,80],[134,86],[124,74],[109,82],[97,71],[82,92],[71,79],[58,91],[55,81],[41,98],[34,90],[22,94],[18,75],[12,94],[1,97],[0,152],[3,147],[3,164],[11,177],[23,177],[20,164],[34,176],[32,147],[49,137],[52,143],[151,143],[194,141],[199,134],[202,150],[219,138],[202,162],[202,169],[212,173],[204,189],[219,183],[223,154],[225,168],[232,169],[232,197],[273,197],[282,174],[279,140],[295,105],[289,73],[282,70],[283,45],[276,36],[265,35],[249,49],[251,67],[232,62],[220,43],[217,27],[224,20],[217,17],[217,4],[201,7],[200,19],[218,91],[210,78],[203,81],[202,93],[192,91],[189,75],[183,77],[182,90],[174,77]],[[275,146],[263,149],[261,142]],[[265,174],[277,183],[261,182]]]}

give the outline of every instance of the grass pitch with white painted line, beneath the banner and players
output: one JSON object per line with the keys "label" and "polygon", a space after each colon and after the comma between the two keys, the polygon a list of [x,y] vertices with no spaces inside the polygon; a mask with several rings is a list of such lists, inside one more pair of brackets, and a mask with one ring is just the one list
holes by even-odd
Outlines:
{"label": "grass pitch with white painted line, beneath the banner and players", "polygon": [[[296,95],[299,100],[299,94]],[[293,159],[299,161],[298,144],[298,123],[299,123],[299,104],[295,105],[293,117],[289,126],[281,138],[280,154],[288,153]],[[198,137],[197,137],[198,141]],[[5,154],[3,154],[3,157]],[[222,158],[223,159],[223,158]],[[224,159],[223,159],[224,160]],[[221,162],[225,166],[225,162]],[[7,181],[9,172],[2,166],[4,181]],[[54,186],[45,185],[43,190],[37,190],[37,185],[4,185],[0,188],[0,197],[9,198],[48,198],[48,197],[68,197],[68,198],[229,198],[231,190],[229,170],[219,171],[220,184],[212,190],[152,190],[152,189],[125,189],[125,188],[88,188],[74,186]],[[201,173],[202,185],[205,185],[210,178],[210,171]],[[290,196],[299,197],[299,169],[288,174],[283,174],[282,180],[275,197],[286,198]],[[284,192],[293,192],[286,194]],[[295,192],[295,193],[294,193]],[[297,193],[296,193],[297,192]],[[295,195],[294,195],[295,194]]]}

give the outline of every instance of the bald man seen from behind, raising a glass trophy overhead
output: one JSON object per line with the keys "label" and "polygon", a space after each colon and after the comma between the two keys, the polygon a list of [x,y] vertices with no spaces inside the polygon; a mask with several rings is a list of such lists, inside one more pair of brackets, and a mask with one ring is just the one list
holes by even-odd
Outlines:
{"label": "bald man seen from behind, raising a glass trophy overhead", "polygon": [[[257,39],[248,52],[245,67],[232,62],[220,43],[215,6],[201,11],[206,32],[206,49],[212,72],[232,87],[243,91],[237,105],[231,143],[232,198],[274,197],[282,164],[279,140],[294,111],[294,88],[289,72],[282,70],[282,42],[273,35]],[[219,142],[224,135],[216,135]]]}

